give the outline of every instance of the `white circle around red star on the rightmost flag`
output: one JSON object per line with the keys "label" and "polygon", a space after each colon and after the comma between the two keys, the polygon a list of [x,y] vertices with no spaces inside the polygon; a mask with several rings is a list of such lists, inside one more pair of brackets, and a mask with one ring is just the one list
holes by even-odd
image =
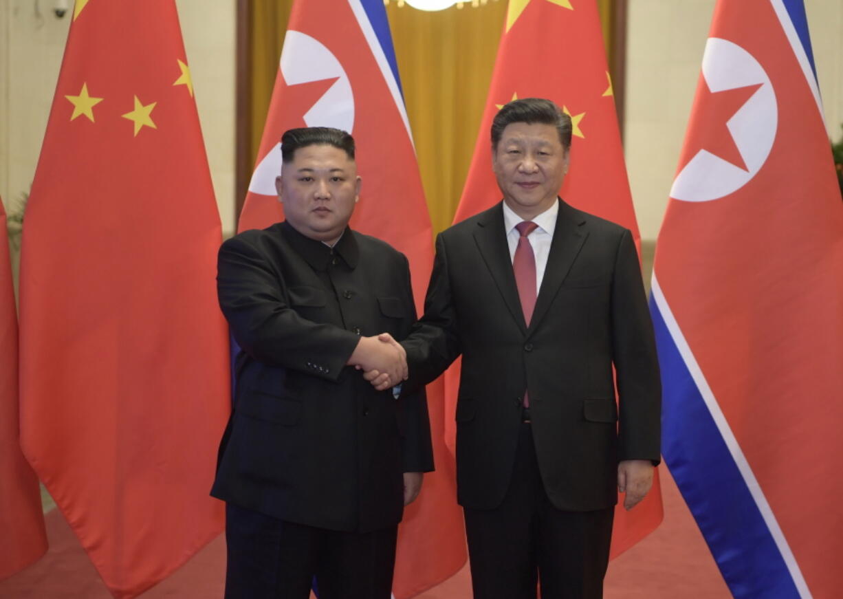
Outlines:
{"label": "white circle around red star on the rightmost flag", "polygon": [[[710,37],[702,57],[702,76],[712,94],[749,85],[761,87],[726,123],[747,170],[701,149],[679,171],[670,189],[670,197],[685,202],[717,200],[751,181],[770,155],[778,126],[776,93],[770,78],[760,62],[741,46]],[[711,115],[696,114],[695,118]]]}

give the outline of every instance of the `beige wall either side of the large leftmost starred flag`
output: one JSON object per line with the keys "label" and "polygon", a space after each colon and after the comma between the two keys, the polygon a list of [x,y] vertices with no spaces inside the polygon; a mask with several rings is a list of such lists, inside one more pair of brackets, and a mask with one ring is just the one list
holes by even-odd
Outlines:
{"label": "beige wall either side of the large leftmost starred flag", "polygon": [[[72,2],[68,3],[72,6]],[[223,231],[234,231],[234,0],[177,0]],[[35,175],[72,10],[0,0],[0,195],[7,208]],[[39,11],[40,8],[40,11]]]}

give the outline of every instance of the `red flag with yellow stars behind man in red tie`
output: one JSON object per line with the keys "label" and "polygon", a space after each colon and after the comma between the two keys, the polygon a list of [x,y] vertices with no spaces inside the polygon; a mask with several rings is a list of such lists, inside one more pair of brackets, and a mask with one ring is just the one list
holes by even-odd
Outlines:
{"label": "red flag with yellow stars behind man in red tie", "polygon": [[[594,0],[510,0],[474,159],[454,222],[491,208],[501,199],[491,171],[489,128],[500,106],[529,97],[553,100],[572,119],[571,171],[561,197],[576,208],[630,229],[640,245]],[[445,375],[448,413],[456,406],[458,386],[456,363]],[[453,443],[453,419],[445,422],[450,428],[449,443]],[[661,521],[657,478],[647,499],[635,510],[615,510],[612,557],[652,532]]]}

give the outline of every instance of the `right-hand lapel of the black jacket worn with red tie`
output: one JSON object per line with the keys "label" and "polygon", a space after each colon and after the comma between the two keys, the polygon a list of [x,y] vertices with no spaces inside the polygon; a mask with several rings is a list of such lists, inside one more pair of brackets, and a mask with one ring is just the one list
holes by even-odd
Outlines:
{"label": "right-hand lapel of the black jacket worn with red tie", "polygon": [[[541,280],[539,295],[535,301],[533,318],[530,320],[529,331],[534,331],[545,317],[556,291],[565,280],[568,271],[580,248],[588,237],[588,232],[583,230],[585,220],[579,216],[576,210],[559,200],[559,214],[556,217],[556,229],[553,232],[553,240],[550,242],[550,255],[547,256],[545,276]],[[510,269],[512,270],[512,269]],[[514,275],[513,275],[514,280]],[[514,283],[513,283],[514,284]]]}

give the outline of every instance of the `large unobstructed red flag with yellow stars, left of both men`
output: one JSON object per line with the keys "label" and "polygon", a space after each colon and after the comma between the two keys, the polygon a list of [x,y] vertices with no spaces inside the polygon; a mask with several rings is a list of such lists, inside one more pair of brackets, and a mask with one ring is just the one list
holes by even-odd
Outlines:
{"label": "large unobstructed red flag with yellow stars, left of both men", "polygon": [[78,0],[26,211],[21,445],[115,597],[222,530],[221,227],[173,0]]}

